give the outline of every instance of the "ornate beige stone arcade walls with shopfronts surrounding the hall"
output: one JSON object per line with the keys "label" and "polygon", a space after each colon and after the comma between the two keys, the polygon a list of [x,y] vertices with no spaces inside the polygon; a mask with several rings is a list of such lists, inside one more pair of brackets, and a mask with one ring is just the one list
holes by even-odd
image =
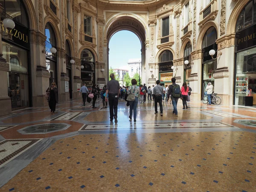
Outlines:
{"label": "ornate beige stone arcade walls with shopfronts surrounding the hall", "polygon": [[[106,84],[108,43],[120,30],[141,41],[141,82],[147,86],[158,79],[170,84],[175,76],[201,100],[212,82],[226,105],[244,105],[248,89],[256,92],[255,0],[1,3],[0,116],[48,105],[45,91],[53,81],[60,101],[78,98],[82,81]],[[6,29],[5,18],[14,29]]]}

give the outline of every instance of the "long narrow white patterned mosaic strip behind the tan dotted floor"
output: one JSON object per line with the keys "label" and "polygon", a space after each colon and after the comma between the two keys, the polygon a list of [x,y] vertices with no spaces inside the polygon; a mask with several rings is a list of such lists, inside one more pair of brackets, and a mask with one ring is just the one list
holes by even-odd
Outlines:
{"label": "long narrow white patterned mosaic strip behind the tan dotted floor", "polygon": [[111,129],[171,129],[171,128],[230,128],[234,127],[223,122],[170,122],[170,123],[144,123],[144,124],[121,124],[110,125],[110,124],[94,124],[84,125],[80,131],[88,130],[111,130]]}

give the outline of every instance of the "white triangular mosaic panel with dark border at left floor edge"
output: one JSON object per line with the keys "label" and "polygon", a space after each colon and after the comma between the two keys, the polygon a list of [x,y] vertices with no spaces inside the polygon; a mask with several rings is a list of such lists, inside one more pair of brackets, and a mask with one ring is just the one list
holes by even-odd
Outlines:
{"label": "white triangular mosaic panel with dark border at left floor edge", "polygon": [[4,140],[0,142],[0,167],[17,157],[41,139]]}

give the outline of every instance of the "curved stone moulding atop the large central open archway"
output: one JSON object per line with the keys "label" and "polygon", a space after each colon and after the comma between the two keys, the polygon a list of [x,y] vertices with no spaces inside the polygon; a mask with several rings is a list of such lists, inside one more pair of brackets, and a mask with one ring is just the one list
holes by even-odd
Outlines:
{"label": "curved stone moulding atop the large central open archway", "polygon": [[143,26],[144,28],[144,34],[145,34],[145,39],[147,37],[149,37],[149,33],[148,33],[148,24],[146,23],[145,19],[143,19],[143,17],[141,17],[140,15],[136,15],[136,14],[127,14],[127,13],[117,13],[115,15],[112,15],[112,17],[110,17],[107,21],[106,21],[106,26],[105,26],[105,30],[104,30],[104,39],[107,39],[107,35],[108,35],[108,30],[109,27],[112,25],[113,22],[115,22],[116,20],[120,19],[120,17],[132,17],[133,19],[137,20],[137,22]]}

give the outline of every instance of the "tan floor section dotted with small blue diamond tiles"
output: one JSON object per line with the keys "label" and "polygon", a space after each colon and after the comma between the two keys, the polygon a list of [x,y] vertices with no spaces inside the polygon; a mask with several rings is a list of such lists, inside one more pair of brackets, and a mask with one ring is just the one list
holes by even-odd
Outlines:
{"label": "tan floor section dotted with small blue diamond tiles", "polygon": [[58,140],[1,190],[253,192],[255,140],[241,131],[79,135]]}

